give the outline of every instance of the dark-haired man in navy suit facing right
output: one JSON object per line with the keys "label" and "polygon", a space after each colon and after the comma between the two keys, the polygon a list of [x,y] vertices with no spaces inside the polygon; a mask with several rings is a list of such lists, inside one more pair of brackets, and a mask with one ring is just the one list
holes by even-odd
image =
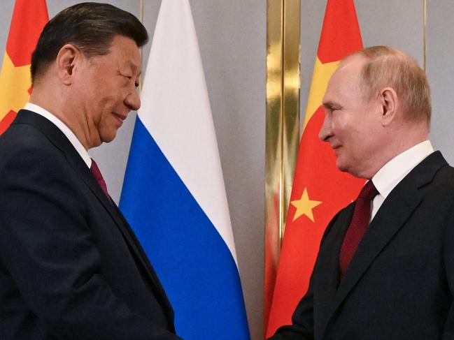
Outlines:
{"label": "dark-haired man in navy suit facing right", "polygon": [[34,91],[0,137],[0,339],[178,340],[173,310],[87,150],[140,99],[134,15],[63,10],[33,54]]}

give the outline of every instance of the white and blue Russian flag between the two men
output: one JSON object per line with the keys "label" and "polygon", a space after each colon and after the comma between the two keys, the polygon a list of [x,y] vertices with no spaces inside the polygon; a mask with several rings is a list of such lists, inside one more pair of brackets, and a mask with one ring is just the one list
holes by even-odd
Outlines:
{"label": "white and blue Russian flag between the two men", "polygon": [[120,209],[186,340],[248,340],[232,226],[189,1],[163,0]]}

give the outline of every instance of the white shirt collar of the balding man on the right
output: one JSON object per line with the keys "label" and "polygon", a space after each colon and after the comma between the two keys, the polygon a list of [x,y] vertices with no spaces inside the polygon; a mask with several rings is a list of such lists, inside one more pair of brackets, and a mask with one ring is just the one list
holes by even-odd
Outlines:
{"label": "white shirt collar of the balding man on the right", "polygon": [[372,182],[378,191],[378,195],[372,200],[371,220],[380,209],[383,201],[388,197],[392,189],[399,184],[413,168],[416,167],[424,158],[434,152],[430,140],[425,140],[410,149],[402,152],[391,161],[383,165],[383,168],[372,177]]}

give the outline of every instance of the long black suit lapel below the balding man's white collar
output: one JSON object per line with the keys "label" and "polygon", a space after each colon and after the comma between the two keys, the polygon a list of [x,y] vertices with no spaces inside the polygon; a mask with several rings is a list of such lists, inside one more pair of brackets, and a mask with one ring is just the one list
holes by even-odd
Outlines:
{"label": "long black suit lapel below the balding man's white collar", "polygon": [[[385,199],[371,221],[346,274],[339,284],[328,313],[328,321],[334,316],[336,310],[348,297],[348,293],[355,287],[371,263],[422,202],[423,194],[420,193],[419,188],[431,182],[435,173],[444,165],[447,165],[447,163],[441,153],[439,151],[434,152],[417,165],[409,175],[404,177]],[[346,230],[343,230],[343,232],[343,235],[345,235]],[[342,240],[343,236],[340,239]],[[338,249],[335,249],[336,265],[339,267],[340,245],[336,244],[336,246],[339,246]]]}

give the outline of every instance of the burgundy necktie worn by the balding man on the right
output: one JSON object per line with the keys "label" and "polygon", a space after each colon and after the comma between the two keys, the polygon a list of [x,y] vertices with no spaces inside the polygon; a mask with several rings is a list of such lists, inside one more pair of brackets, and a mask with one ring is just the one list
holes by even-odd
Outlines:
{"label": "burgundy necktie worn by the balding man on the right", "polygon": [[371,200],[378,194],[376,187],[372,181],[369,181],[362,188],[360,195],[356,200],[355,210],[350,226],[343,238],[341,254],[339,256],[339,264],[341,275],[345,274],[353,254],[360,244],[362,237],[366,233],[369,221],[371,218]]}

